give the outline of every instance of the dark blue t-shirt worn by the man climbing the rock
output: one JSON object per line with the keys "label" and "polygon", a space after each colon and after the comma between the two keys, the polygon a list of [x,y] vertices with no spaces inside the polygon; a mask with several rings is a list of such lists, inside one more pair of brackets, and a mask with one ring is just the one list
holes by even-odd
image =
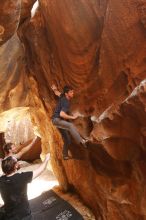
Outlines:
{"label": "dark blue t-shirt worn by the man climbing the rock", "polygon": [[60,118],[60,112],[63,111],[68,114],[70,108],[70,102],[65,96],[59,97],[59,102],[56,106],[52,119]]}

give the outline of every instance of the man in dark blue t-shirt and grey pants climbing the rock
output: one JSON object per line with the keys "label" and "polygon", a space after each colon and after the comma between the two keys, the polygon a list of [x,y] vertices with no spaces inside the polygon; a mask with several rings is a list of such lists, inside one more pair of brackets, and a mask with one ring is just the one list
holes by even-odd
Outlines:
{"label": "man in dark blue t-shirt and grey pants climbing the rock", "polygon": [[[74,138],[77,144],[82,144],[87,148],[87,140],[83,139],[72,122],[68,120],[75,120],[78,115],[70,115],[70,101],[74,97],[74,90],[70,86],[65,86],[63,93],[59,92],[55,85],[52,85],[52,90],[55,95],[59,97],[59,102],[56,106],[54,114],[52,116],[53,124],[59,128],[59,131],[62,135],[64,146],[63,146],[63,159],[68,160],[68,146],[71,143],[70,135]],[[69,132],[69,133],[68,133]]]}

